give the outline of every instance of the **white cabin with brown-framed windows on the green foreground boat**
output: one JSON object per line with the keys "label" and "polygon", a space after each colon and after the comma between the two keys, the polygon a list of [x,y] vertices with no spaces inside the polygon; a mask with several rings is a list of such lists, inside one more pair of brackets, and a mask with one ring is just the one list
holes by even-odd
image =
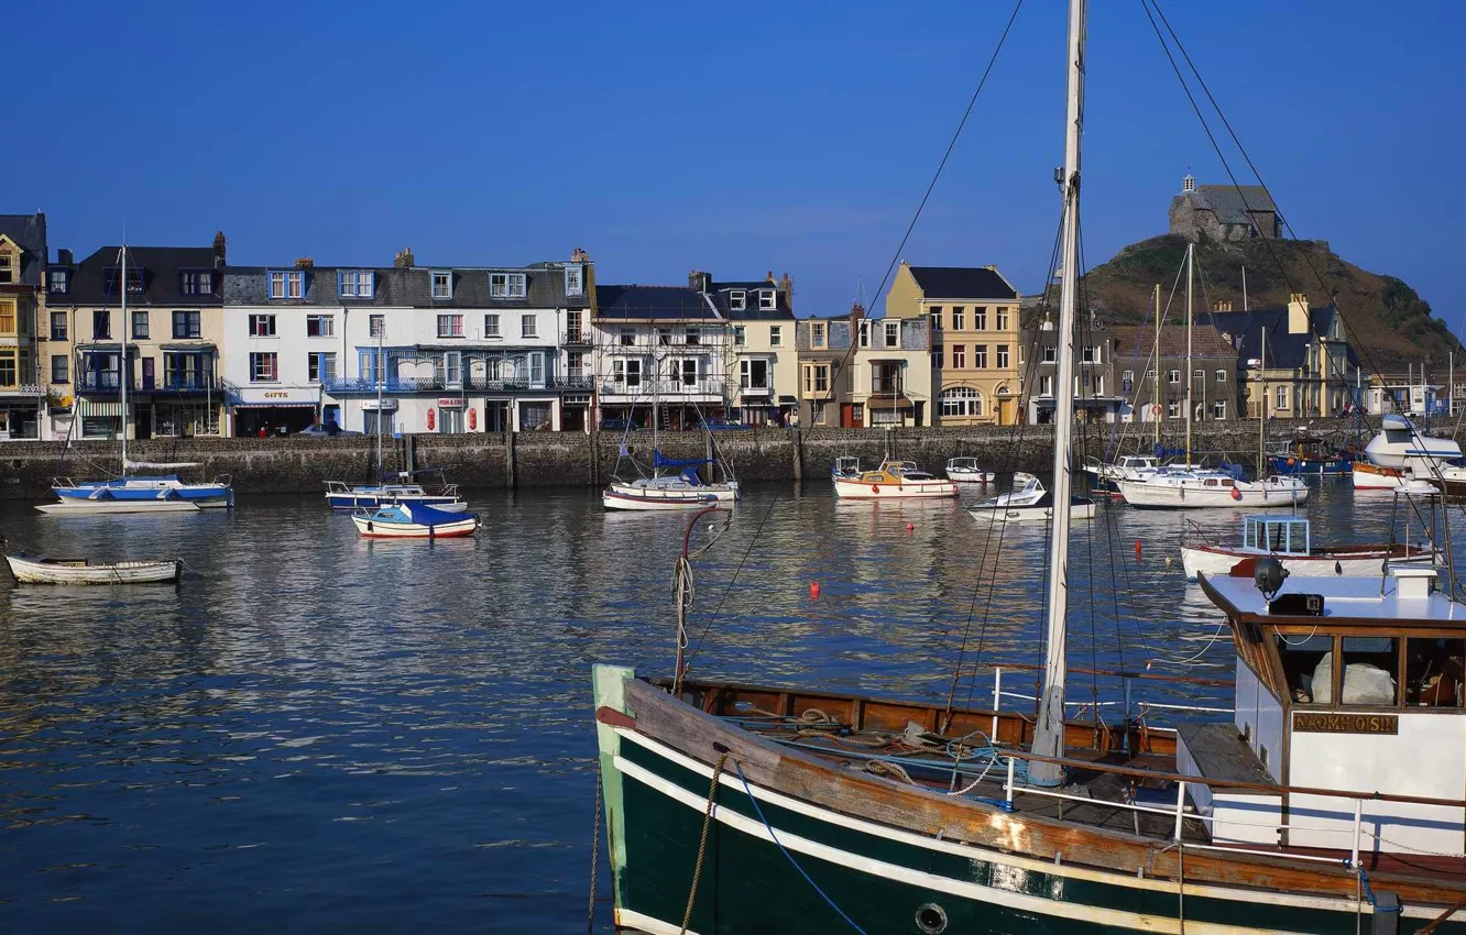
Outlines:
{"label": "white cabin with brown-framed windows on the green foreground boat", "polygon": [[[1237,649],[1234,722],[1177,733],[1177,772],[1201,780],[1190,796],[1212,841],[1466,854],[1466,605],[1437,570],[1293,577],[1275,594],[1252,577],[1201,582]],[[1240,786],[1258,783],[1293,791]],[[1349,799],[1299,787],[1362,793],[1362,840]]]}

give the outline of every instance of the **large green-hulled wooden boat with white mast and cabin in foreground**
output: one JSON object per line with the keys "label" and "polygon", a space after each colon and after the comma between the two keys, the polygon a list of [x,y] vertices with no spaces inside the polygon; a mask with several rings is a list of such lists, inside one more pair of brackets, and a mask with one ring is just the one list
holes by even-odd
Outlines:
{"label": "large green-hulled wooden boat with white mast and cabin in foreground", "polygon": [[[1075,366],[1083,40],[1085,0],[1072,0],[1058,385]],[[1064,503],[1067,406],[1056,410],[1054,440],[1053,494]],[[702,519],[692,517],[689,533]],[[1378,661],[1388,651],[1344,636],[1374,632],[1352,605],[1418,617],[1382,640],[1400,640],[1396,652],[1429,627],[1466,633],[1466,607],[1431,589],[1434,570],[1369,579],[1372,598],[1322,582],[1336,591],[1318,602],[1322,617],[1306,616],[1308,594],[1271,579],[1270,592],[1250,596],[1249,579],[1208,580],[1237,640],[1236,720],[1158,733],[1129,717],[1064,717],[1069,519],[1057,510],[1048,539],[1036,718],[693,680],[682,639],[671,679],[597,665],[616,925],[657,935],[1466,932],[1456,914],[1466,907],[1466,709],[1445,708],[1459,690],[1443,684],[1460,664],[1456,643],[1440,654],[1429,689],[1425,671],[1409,695],[1435,706],[1415,712],[1403,698],[1380,702],[1388,673],[1355,655],[1374,648],[1368,661]],[[686,601],[677,614],[685,632]],[[1327,646],[1315,649],[1309,640],[1325,632]],[[1275,664],[1283,640],[1293,668]],[[1350,646],[1347,665],[1324,665],[1340,645]],[[1434,652],[1434,642],[1421,649]],[[1277,683],[1297,684],[1303,662],[1311,690],[1294,701]],[[1366,703],[1333,703],[1341,696]],[[1456,740],[1432,753],[1412,740],[1422,730]],[[1287,786],[1289,769],[1312,781]],[[1435,791],[1453,781],[1456,791]]]}

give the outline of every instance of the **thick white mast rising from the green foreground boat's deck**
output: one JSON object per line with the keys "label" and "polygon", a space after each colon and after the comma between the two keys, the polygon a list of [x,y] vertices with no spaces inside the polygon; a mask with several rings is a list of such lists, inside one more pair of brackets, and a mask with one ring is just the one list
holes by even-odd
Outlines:
{"label": "thick white mast rising from the green foreground boat's deck", "polygon": [[[1038,706],[1034,730],[1034,753],[1064,755],[1064,676],[1067,670],[1069,618],[1069,498],[1073,489],[1070,462],[1073,459],[1075,424],[1075,317],[1079,298],[1079,133],[1083,126],[1085,98],[1085,4],[1069,3],[1069,100],[1064,104],[1064,230],[1061,246],[1063,277],[1058,292],[1058,384],[1054,396],[1054,533],[1048,541],[1048,623],[1044,658],[1044,696]],[[1029,764],[1029,780],[1039,786],[1063,781],[1058,764]]]}

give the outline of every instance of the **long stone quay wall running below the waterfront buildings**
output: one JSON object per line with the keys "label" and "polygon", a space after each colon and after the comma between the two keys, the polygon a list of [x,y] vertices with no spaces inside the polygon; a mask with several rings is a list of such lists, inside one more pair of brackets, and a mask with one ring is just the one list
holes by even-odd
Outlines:
{"label": "long stone quay wall running below the waterfront buildings", "polygon": [[[1365,438],[1378,431],[1368,419]],[[1306,426],[1314,437],[1352,444],[1353,419],[1277,421],[1268,425],[1268,447],[1275,448]],[[1448,426],[1454,428],[1454,426]],[[1123,438],[1126,451],[1149,450],[1151,425],[1091,424],[1078,426],[1076,454],[1102,456]],[[1448,434],[1448,431],[1445,432]],[[874,466],[888,453],[940,469],[949,457],[970,454],[990,470],[1047,473],[1053,462],[1053,428],[938,426],[902,428],[761,428],[714,432],[718,450],[733,462],[739,479],[751,484],[824,478],[840,456],[856,456]],[[1163,426],[1161,444],[1182,447],[1185,426]],[[642,463],[651,460],[651,432],[630,432],[625,440]],[[663,432],[661,451],[674,459],[705,457],[708,438],[701,432]],[[388,438],[384,457],[390,470],[443,468],[465,488],[583,487],[604,484],[617,469],[623,437],[598,432],[479,432],[465,435],[406,435]],[[1258,424],[1202,422],[1193,428],[1193,450],[1229,454],[1252,463],[1258,450]],[[10,441],[0,444],[0,498],[41,500],[56,476],[75,479],[117,472],[117,446],[107,441]],[[129,443],[135,462],[196,462],[183,470],[191,479],[229,475],[245,494],[317,494],[325,481],[371,481],[377,443],[352,438],[166,438]]]}

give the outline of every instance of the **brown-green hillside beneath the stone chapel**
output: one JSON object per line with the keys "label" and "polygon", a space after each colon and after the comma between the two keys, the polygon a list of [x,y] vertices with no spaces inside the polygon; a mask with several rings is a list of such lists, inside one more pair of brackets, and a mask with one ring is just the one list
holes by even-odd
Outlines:
{"label": "brown-green hillside beneath the stone chapel", "polygon": [[[1161,284],[1164,305],[1185,258],[1186,239],[1180,236],[1132,243],[1089,271],[1085,299],[1114,321],[1145,318],[1151,314],[1151,290]],[[1393,276],[1341,259],[1327,240],[1198,243],[1196,311],[1215,308],[1217,302],[1231,302],[1233,309],[1242,311],[1243,267],[1250,308],[1286,305],[1290,292],[1306,293],[1312,308],[1337,300],[1346,337],[1366,369],[1403,371],[1406,363],[1422,361],[1432,368],[1445,366],[1447,353],[1460,350],[1447,324],[1431,315],[1431,305],[1413,289]],[[1183,315],[1185,308],[1183,280],[1170,318]]]}

